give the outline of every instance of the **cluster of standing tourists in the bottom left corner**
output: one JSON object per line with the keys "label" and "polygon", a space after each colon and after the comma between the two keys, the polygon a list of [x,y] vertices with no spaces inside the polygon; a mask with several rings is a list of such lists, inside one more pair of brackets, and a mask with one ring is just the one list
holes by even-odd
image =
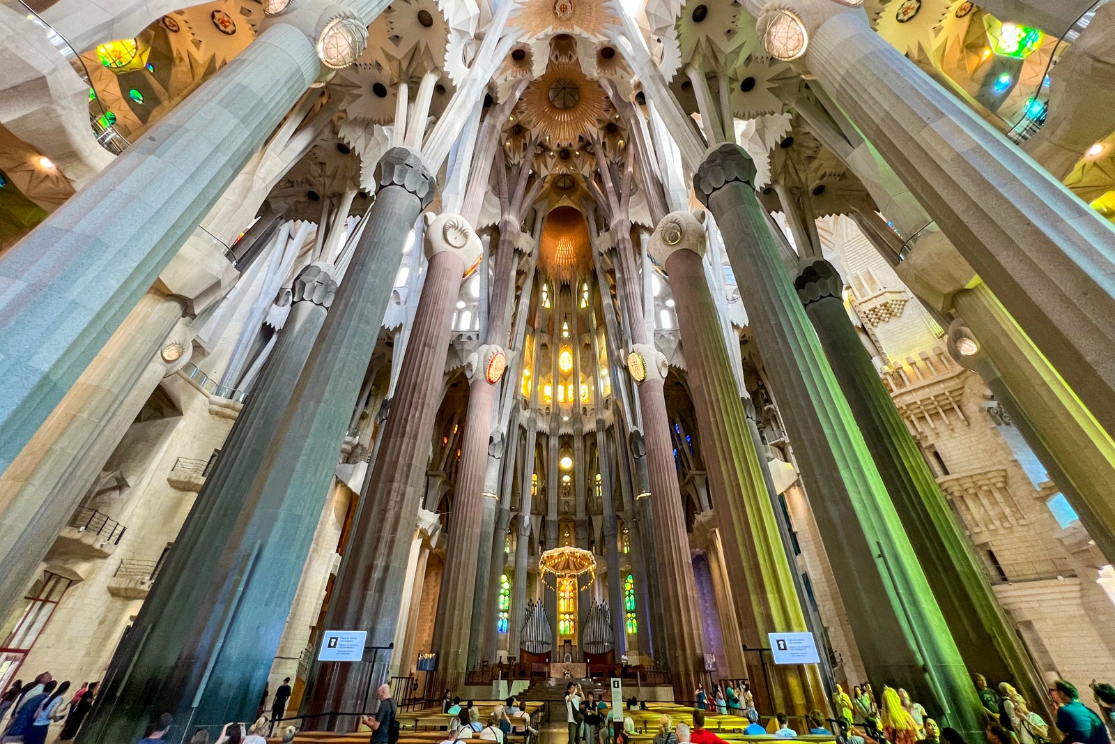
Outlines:
{"label": "cluster of standing tourists in the bottom left corner", "polygon": [[49,671],[27,684],[14,680],[0,696],[0,742],[43,744],[50,724],[60,721],[65,723],[58,741],[72,741],[93,707],[97,683],[84,682],[72,695],[70,687],[68,680],[58,684]]}

